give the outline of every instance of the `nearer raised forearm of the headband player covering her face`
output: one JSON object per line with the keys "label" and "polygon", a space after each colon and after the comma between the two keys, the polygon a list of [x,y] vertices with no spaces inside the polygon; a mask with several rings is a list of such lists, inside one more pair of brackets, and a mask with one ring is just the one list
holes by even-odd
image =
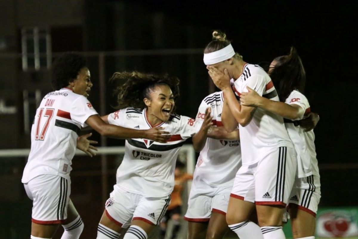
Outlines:
{"label": "nearer raised forearm of the headband player covering her face", "polygon": [[[225,95],[225,101],[227,102],[229,109],[231,111],[231,114],[233,115],[236,122],[242,126],[246,126],[248,123],[250,123],[250,121],[252,119],[252,115],[250,114],[250,112],[242,111],[241,104],[237,101],[237,99],[234,95],[234,92],[232,92],[231,89],[226,89],[226,90],[224,90],[224,95]],[[225,116],[224,116],[224,118],[225,118]],[[228,120],[228,119],[225,119],[225,120]],[[223,119],[222,119],[222,121],[224,124]],[[233,130],[234,129],[231,128],[231,131],[229,131],[229,130],[228,131],[232,132]]]}

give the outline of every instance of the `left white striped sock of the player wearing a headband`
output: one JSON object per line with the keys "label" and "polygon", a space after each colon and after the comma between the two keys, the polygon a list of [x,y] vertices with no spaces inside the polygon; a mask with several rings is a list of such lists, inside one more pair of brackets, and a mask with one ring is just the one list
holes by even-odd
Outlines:
{"label": "left white striped sock of the player wearing a headband", "polygon": [[252,221],[243,221],[242,223],[229,225],[229,228],[241,239],[263,239],[260,227]]}

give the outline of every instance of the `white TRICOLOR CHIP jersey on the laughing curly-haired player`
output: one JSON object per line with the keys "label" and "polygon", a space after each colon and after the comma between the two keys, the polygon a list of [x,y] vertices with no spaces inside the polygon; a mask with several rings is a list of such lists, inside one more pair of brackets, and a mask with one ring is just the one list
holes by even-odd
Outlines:
{"label": "white TRICOLOR CHIP jersey on the laughing curly-haired player", "polygon": [[[147,110],[132,107],[108,115],[108,122],[132,129],[150,129]],[[171,115],[160,125],[172,135],[167,143],[148,139],[127,139],[125,154],[117,169],[117,186],[145,197],[168,196],[174,187],[175,161],[184,141],[199,130],[199,122],[187,116]]]}

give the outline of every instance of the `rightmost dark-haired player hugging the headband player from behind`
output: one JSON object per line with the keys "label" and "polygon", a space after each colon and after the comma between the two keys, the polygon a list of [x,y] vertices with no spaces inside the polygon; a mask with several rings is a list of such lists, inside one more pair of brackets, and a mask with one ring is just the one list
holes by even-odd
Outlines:
{"label": "rightmost dark-haired player hugging the headband player from behind", "polygon": [[310,113],[310,105],[303,94],[306,74],[295,48],[288,55],[276,57],[270,65],[270,77],[281,101],[261,97],[248,88],[241,95],[241,104],[255,106],[285,118],[285,126],[297,154],[297,176],[290,195],[289,214],[292,234],[296,239],[314,239],[316,213],[321,197],[318,161],[313,130],[306,130],[297,120]]}

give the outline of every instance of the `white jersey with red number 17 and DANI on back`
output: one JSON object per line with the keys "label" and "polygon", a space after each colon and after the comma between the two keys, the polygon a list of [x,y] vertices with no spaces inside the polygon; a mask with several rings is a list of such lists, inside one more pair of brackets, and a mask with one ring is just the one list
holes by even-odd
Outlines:
{"label": "white jersey with red number 17 and DANI on back", "polygon": [[69,88],[45,95],[32,124],[31,150],[21,182],[46,174],[69,179],[78,132],[95,114],[87,98]]}

